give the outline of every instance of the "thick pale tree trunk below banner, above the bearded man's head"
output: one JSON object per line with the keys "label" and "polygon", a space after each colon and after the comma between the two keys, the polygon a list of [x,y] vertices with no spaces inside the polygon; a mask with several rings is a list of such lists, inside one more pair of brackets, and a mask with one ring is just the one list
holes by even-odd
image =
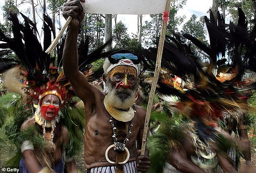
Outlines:
{"label": "thick pale tree trunk below banner, above the bearded man's head", "polygon": [[[112,15],[105,15],[105,42],[112,39]],[[106,46],[106,52],[112,50],[112,41]]]}

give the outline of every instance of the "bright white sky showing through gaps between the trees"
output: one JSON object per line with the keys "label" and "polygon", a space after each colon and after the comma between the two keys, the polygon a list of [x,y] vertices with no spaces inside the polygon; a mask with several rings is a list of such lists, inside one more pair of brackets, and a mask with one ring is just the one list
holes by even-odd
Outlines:
{"label": "bright white sky showing through gaps between the trees", "polygon": [[[0,0],[0,21],[1,22],[3,20],[3,12],[2,12],[3,5],[4,5],[4,0]],[[29,6],[29,4],[27,4],[26,6],[24,6],[24,5],[21,6],[21,7],[23,7],[23,8],[21,8],[21,12],[24,13],[27,10],[26,9],[27,6]],[[178,16],[183,16],[183,15],[186,16],[185,21],[183,22],[183,24],[184,24],[186,21],[188,21],[190,19],[190,17],[193,14],[197,15],[198,19],[201,16],[205,16],[205,15],[208,16],[207,11],[209,10],[209,8],[211,6],[212,6],[212,0],[187,0],[187,4],[185,4],[183,6],[183,9],[180,9],[178,11],[177,15]],[[32,16],[30,16],[29,18],[32,19]],[[137,15],[118,15],[117,19],[118,19],[118,21],[122,21],[126,25],[126,27],[128,28],[128,33],[130,35],[132,35],[132,33],[135,33],[135,34],[137,33]],[[63,19],[63,17],[61,17],[61,25],[64,24],[64,20],[65,19]],[[146,20],[150,20],[149,15],[143,15],[143,25],[145,24]],[[37,21],[40,21],[40,19],[38,18]],[[57,27],[59,27],[58,24],[59,24],[59,22],[56,21]],[[40,23],[39,23],[39,25],[40,25]],[[182,25],[180,25],[180,27],[178,27],[178,29],[181,29]],[[113,23],[113,26],[114,26],[114,23]]]}

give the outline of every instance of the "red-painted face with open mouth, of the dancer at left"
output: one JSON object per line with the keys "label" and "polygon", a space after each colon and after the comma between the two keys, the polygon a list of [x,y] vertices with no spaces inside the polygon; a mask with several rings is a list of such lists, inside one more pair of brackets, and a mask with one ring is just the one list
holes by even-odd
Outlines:
{"label": "red-painted face with open mouth, of the dancer at left", "polygon": [[60,100],[57,96],[49,94],[44,96],[41,103],[41,113],[46,120],[53,120],[58,115]]}

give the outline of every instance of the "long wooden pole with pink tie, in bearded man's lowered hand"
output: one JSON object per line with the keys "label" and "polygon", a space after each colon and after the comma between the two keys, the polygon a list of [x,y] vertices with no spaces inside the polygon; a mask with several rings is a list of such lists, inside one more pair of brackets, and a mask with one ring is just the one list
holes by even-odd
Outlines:
{"label": "long wooden pole with pink tie, in bearded man's lowered hand", "polygon": [[[166,2],[166,11],[170,11],[170,1],[171,0],[167,0],[167,2]],[[149,102],[147,104],[147,114],[146,114],[144,131],[143,131],[141,155],[145,154],[145,148],[146,148],[146,142],[147,142],[147,131],[149,128],[149,118],[150,118],[150,114],[151,114],[151,109],[152,109],[152,104],[153,104],[153,99],[154,99],[154,94],[155,94],[155,88],[157,85],[159,72],[160,72],[160,68],[161,68],[161,60],[162,60],[162,54],[163,54],[163,49],[164,49],[164,40],[165,40],[167,24],[168,24],[168,21],[163,20],[161,34],[160,34],[160,40],[159,40],[159,45],[158,45],[158,50],[157,50],[155,73],[154,73],[154,77],[153,77],[151,91],[149,94]]]}

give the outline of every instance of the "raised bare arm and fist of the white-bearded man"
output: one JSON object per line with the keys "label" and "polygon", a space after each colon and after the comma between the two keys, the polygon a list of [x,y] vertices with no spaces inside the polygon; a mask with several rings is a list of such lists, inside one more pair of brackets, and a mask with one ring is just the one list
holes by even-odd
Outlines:
{"label": "raised bare arm and fist of the white-bearded man", "polygon": [[[82,2],[84,0],[81,0]],[[65,76],[70,80],[71,85],[78,97],[86,101],[88,96],[93,96],[91,86],[82,72],[78,70],[78,29],[84,18],[83,8],[78,0],[68,0],[64,4],[63,17],[71,16],[67,37],[63,50],[63,70]]]}

